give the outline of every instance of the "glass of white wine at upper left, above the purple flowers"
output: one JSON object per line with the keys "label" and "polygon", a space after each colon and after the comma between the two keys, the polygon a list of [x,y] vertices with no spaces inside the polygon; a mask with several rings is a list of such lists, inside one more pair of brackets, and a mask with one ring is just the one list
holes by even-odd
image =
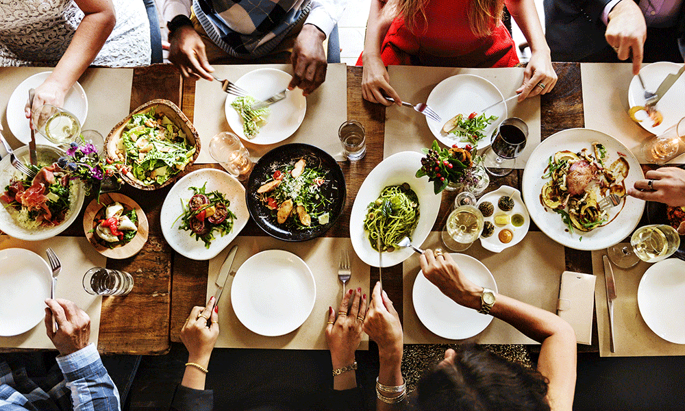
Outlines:
{"label": "glass of white wine at upper left, above the purple flowers", "polygon": [[35,108],[32,121],[35,129],[56,145],[68,145],[81,134],[79,119],[54,105],[45,104]]}

